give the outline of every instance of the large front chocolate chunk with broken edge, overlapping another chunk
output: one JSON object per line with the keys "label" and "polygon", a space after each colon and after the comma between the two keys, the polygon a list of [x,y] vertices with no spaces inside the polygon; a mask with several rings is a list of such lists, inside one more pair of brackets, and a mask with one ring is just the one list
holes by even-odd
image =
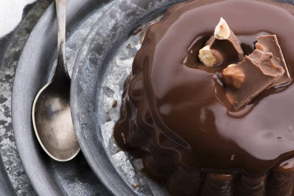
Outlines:
{"label": "large front chocolate chunk with broken edge, overlapping another chunk", "polygon": [[272,61],[272,53],[253,51],[238,65],[229,65],[222,71],[225,94],[236,110],[247,104],[273,84],[285,70]]}

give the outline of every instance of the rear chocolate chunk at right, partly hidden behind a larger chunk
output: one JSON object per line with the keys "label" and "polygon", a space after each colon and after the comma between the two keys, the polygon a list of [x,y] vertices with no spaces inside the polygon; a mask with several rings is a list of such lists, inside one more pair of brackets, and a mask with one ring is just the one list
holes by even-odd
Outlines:
{"label": "rear chocolate chunk at right, partly hidden behind a larger chunk", "polygon": [[285,73],[281,75],[270,87],[277,86],[280,84],[285,84],[291,81],[290,73],[286,65],[284,55],[282,53],[281,47],[279,45],[276,35],[261,35],[257,38],[257,43],[255,44],[256,49],[260,49],[265,52],[271,52],[272,62],[276,66],[280,66],[285,70]]}

